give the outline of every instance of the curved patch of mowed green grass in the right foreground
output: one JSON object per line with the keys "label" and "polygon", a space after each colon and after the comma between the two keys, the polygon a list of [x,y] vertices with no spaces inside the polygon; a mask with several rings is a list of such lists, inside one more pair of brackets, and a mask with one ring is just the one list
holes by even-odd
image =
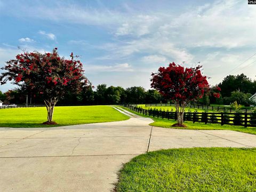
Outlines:
{"label": "curved patch of mowed green grass in the right foreground", "polygon": [[119,173],[116,191],[255,191],[256,149],[168,149],[139,155]]}

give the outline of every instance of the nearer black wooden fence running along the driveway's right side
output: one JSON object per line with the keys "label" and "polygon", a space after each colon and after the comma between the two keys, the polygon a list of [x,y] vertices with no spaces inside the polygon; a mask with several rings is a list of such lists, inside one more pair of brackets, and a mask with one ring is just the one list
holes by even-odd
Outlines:
{"label": "nearer black wooden fence running along the driveway's right side", "polygon": [[[157,118],[175,119],[177,120],[177,113],[170,111],[148,110],[132,105],[121,105],[129,108],[137,113],[148,115]],[[197,113],[185,112],[184,121],[202,122],[202,123],[215,123],[221,125],[240,125],[240,126],[256,126],[256,113]]]}

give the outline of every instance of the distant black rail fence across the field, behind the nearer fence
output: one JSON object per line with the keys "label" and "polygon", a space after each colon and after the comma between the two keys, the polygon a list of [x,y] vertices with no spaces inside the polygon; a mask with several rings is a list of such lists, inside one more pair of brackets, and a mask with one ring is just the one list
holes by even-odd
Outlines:
{"label": "distant black rail fence across the field, behind the nearer fence", "polygon": [[[146,104],[146,107],[157,107],[157,106],[174,106],[172,103],[153,103],[153,104]],[[230,113],[235,113],[236,110],[234,110],[231,107],[222,107],[222,106],[206,106],[206,105],[198,105],[198,104],[193,104],[193,105],[187,105],[189,108],[194,108],[194,109],[203,109],[203,110],[212,110],[212,111],[220,111],[220,112],[230,112]],[[242,113],[253,113],[254,110],[252,109],[240,109]]]}

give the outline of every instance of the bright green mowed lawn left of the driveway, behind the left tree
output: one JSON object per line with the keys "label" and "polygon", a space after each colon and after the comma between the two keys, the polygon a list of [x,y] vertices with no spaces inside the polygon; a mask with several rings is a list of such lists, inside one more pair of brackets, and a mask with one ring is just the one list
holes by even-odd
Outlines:
{"label": "bright green mowed lawn left of the driveway, behind the left tree", "polygon": [[49,127],[129,119],[110,106],[55,107],[53,121],[58,125],[42,125],[47,121],[45,107],[0,110],[0,127]]}

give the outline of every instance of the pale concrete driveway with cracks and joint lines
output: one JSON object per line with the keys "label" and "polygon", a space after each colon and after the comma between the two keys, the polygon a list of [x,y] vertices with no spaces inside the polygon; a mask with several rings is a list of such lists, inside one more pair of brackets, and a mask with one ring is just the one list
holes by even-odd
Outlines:
{"label": "pale concrete driveway with cracks and joint lines", "polygon": [[256,147],[256,135],[152,127],[150,118],[0,129],[0,191],[111,191],[123,163],[180,147]]}

